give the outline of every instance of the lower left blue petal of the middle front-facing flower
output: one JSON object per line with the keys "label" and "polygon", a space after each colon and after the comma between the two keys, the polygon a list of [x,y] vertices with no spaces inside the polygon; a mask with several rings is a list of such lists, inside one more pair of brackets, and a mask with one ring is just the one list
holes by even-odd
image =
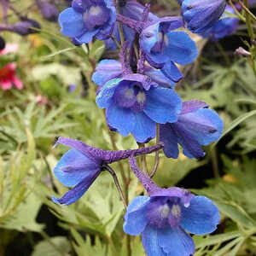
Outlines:
{"label": "lower left blue petal of the middle front-facing flower", "polygon": [[119,108],[111,102],[106,111],[108,125],[116,129],[122,136],[128,136],[135,126],[134,113],[129,108]]}

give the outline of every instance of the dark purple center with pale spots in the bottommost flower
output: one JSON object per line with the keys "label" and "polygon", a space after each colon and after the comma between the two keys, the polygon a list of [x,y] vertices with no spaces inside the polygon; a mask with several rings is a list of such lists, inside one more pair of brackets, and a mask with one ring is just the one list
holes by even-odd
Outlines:
{"label": "dark purple center with pale spots in the bottommost flower", "polygon": [[157,228],[179,225],[182,217],[180,199],[178,197],[155,196],[148,204],[147,218],[149,224]]}

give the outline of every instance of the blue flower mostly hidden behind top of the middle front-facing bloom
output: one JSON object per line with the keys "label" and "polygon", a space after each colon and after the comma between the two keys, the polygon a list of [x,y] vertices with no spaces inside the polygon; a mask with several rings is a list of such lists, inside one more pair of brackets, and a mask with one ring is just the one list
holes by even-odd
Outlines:
{"label": "blue flower mostly hidden behind top of the middle front-facing bloom", "polygon": [[[152,79],[155,83],[162,87],[174,88],[175,83],[168,79],[160,69],[146,66],[144,68],[144,74]],[[111,79],[120,79],[122,77],[122,65],[121,62],[115,60],[102,60],[96,66],[96,71],[92,75],[92,81],[99,85],[101,89]]]}

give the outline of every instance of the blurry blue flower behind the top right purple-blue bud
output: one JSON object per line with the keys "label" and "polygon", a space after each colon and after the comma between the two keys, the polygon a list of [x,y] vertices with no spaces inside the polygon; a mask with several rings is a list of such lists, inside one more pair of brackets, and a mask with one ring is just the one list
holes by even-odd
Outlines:
{"label": "blurry blue flower behind the top right purple-blue bud", "polygon": [[[225,12],[236,15],[235,10],[230,5],[226,6]],[[204,38],[211,38],[212,41],[218,41],[220,38],[230,36],[236,32],[238,25],[238,18],[229,17],[228,15],[223,14],[221,19],[218,20],[217,23],[215,23],[207,32],[202,34],[202,36]]]}

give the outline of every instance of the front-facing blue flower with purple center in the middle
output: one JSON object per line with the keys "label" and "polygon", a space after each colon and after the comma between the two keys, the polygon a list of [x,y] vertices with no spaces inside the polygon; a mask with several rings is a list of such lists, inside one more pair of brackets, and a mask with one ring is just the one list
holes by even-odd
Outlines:
{"label": "front-facing blue flower with purple center in the middle", "polygon": [[158,87],[148,76],[138,73],[108,81],[96,103],[106,108],[108,125],[122,136],[131,132],[139,143],[155,137],[155,123],[175,122],[182,107],[172,89]]}

